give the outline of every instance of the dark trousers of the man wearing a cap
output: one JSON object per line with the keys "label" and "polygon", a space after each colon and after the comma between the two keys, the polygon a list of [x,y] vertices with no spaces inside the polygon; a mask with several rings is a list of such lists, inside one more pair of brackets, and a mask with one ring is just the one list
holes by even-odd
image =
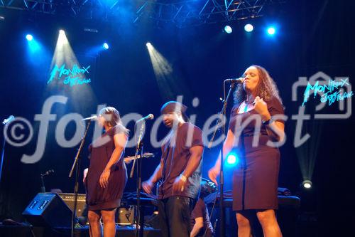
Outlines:
{"label": "dark trousers of the man wearing a cap", "polygon": [[190,216],[195,200],[185,196],[170,196],[158,201],[159,223],[163,237],[189,237]]}

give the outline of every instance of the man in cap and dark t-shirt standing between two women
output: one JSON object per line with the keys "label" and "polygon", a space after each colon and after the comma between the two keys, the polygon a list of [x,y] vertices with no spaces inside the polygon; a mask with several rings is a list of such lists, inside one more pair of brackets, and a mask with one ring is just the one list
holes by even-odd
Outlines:
{"label": "man in cap and dark t-shirt standing between two women", "polygon": [[160,230],[166,237],[189,237],[191,211],[200,191],[201,159],[204,149],[202,131],[187,122],[187,107],[170,101],[160,112],[163,122],[171,130],[161,147],[160,164],[150,179],[143,182],[143,190],[151,193],[158,187]]}

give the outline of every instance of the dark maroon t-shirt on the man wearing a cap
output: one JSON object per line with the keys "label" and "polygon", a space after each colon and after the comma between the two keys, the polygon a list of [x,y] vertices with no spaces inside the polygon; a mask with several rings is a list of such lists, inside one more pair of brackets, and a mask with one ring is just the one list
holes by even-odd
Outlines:
{"label": "dark maroon t-shirt on the man wearing a cap", "polygon": [[201,166],[187,179],[185,189],[173,193],[175,179],[182,174],[189,162],[190,148],[204,146],[202,131],[191,123],[184,123],[177,130],[171,131],[161,147],[163,159],[162,179],[158,189],[158,199],[167,199],[170,196],[187,196],[196,199],[200,191]]}

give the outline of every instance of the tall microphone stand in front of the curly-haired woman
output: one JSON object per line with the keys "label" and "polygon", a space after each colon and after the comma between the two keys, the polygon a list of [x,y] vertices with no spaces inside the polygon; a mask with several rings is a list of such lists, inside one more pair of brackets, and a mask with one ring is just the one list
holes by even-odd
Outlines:
{"label": "tall microphone stand in front of the curly-haired woman", "polygon": [[[223,89],[224,89],[224,100],[223,100],[223,107],[221,112],[219,112],[219,118],[217,120],[217,126],[216,129],[214,130],[214,133],[212,135],[211,141],[208,144],[208,148],[212,147],[212,143],[214,141],[214,137],[217,134],[217,130],[222,130],[222,134],[225,136],[226,135],[226,124],[224,119],[226,119],[226,106],[228,104],[228,99],[229,96],[231,95],[231,91],[234,88],[234,82],[231,81],[231,86],[229,87],[228,94],[226,96],[226,80],[224,80],[223,83]],[[225,209],[224,209],[224,172],[223,172],[223,165],[224,165],[224,154],[223,154],[223,142],[222,142],[222,148],[221,148],[221,164],[220,164],[220,170],[219,170],[219,235],[221,237],[224,237],[226,234],[225,230]],[[217,199],[217,195],[216,195]]]}

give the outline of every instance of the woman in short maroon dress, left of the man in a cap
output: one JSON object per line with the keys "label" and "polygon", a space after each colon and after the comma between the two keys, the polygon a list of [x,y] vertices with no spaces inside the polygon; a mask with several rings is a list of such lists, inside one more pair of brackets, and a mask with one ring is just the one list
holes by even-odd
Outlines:
{"label": "woman in short maroon dress, left of the man in a cap", "polygon": [[124,149],[129,130],[122,125],[119,112],[105,107],[99,112],[99,125],[104,134],[89,146],[90,165],[84,180],[87,188],[90,236],[101,236],[101,218],[104,237],[116,234],[115,212],[120,206],[127,180]]}

